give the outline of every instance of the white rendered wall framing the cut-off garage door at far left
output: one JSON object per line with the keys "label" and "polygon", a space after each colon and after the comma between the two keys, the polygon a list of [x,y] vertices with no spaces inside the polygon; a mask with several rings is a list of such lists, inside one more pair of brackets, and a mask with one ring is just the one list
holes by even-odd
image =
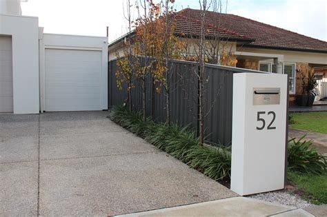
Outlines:
{"label": "white rendered wall framing the cut-off garage door at far left", "polygon": [[39,20],[0,14],[0,35],[12,37],[14,114],[39,113]]}

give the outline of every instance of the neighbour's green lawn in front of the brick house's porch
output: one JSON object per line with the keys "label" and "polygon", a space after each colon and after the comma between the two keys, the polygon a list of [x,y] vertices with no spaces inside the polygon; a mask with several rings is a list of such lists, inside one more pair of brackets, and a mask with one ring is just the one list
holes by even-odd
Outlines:
{"label": "neighbour's green lawn in front of the brick house's porch", "polygon": [[292,128],[327,134],[327,112],[290,113],[293,116]]}

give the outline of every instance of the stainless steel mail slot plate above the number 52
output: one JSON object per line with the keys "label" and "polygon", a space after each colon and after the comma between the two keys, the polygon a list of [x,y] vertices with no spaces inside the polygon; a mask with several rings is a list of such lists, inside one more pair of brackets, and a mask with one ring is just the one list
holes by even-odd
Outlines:
{"label": "stainless steel mail slot plate above the number 52", "polygon": [[253,88],[253,105],[279,105],[280,88],[255,87]]}

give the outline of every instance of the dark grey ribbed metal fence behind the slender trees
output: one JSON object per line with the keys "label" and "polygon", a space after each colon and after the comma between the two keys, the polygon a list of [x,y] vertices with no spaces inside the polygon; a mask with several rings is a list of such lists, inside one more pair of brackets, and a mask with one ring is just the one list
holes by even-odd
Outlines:
{"label": "dark grey ribbed metal fence behind the slender trees", "polygon": [[[127,100],[126,88],[117,88],[115,72],[117,61],[108,64],[108,109],[122,105]],[[189,61],[170,61],[170,117],[174,123],[198,130],[198,79],[199,65]],[[205,134],[211,143],[231,145],[232,141],[232,75],[241,72],[256,72],[220,65],[206,64],[204,85]],[[132,107],[142,110],[141,81],[134,78],[132,89]],[[146,82],[147,115],[156,121],[166,121],[166,95],[164,90],[153,90],[150,74]]]}

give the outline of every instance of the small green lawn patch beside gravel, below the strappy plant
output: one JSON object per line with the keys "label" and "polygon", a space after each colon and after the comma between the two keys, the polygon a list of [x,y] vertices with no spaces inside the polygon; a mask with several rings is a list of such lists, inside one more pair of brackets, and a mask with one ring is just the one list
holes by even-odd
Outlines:
{"label": "small green lawn patch beside gravel, below the strappy plant", "polygon": [[301,196],[316,205],[327,204],[327,174],[324,176],[288,172],[288,181],[302,193]]}

